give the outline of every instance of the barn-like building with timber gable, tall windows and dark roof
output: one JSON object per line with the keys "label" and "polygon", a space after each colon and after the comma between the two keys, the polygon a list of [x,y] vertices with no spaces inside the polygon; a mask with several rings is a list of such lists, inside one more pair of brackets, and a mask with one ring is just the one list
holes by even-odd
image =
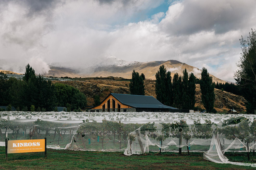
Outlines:
{"label": "barn-like building with timber gable, tall windows and dark roof", "polygon": [[110,93],[89,112],[189,112],[163,105],[153,96]]}

